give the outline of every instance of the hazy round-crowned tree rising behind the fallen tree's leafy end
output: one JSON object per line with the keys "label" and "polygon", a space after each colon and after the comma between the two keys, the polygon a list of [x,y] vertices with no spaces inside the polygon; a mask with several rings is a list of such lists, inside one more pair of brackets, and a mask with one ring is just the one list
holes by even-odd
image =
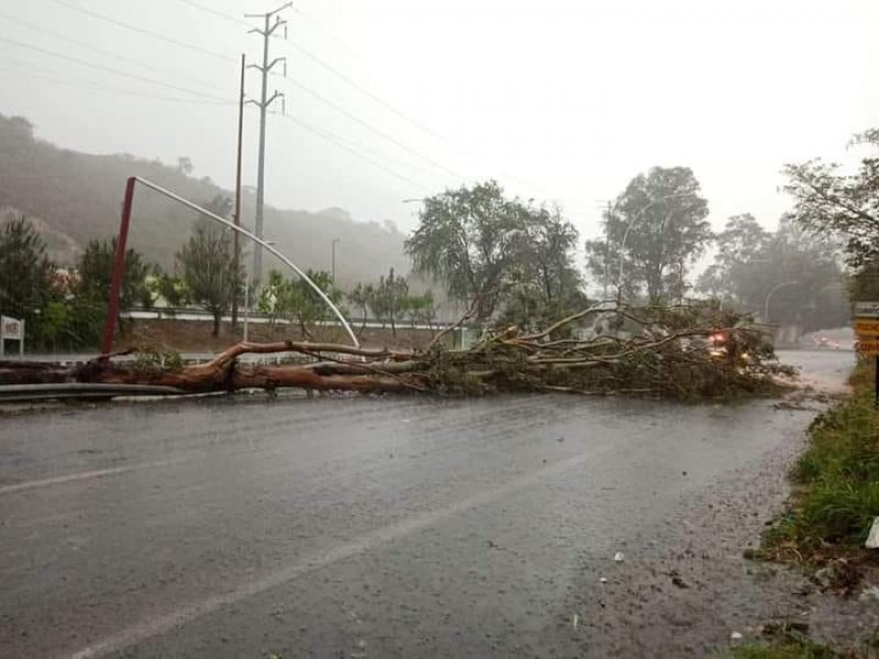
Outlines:
{"label": "hazy round-crowned tree rising behind the fallen tree's leafy end", "polygon": [[605,238],[586,244],[589,269],[630,294],[680,295],[688,267],[713,238],[705,217],[708,202],[690,168],[654,167],[604,213]]}

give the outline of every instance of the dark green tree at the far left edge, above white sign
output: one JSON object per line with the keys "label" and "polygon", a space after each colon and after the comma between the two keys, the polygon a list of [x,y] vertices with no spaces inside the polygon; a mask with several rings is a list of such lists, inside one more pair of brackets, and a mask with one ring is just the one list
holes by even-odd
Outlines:
{"label": "dark green tree at the far left edge, above white sign", "polygon": [[34,321],[49,300],[53,270],[31,221],[24,215],[10,219],[0,230],[0,313],[36,330]]}

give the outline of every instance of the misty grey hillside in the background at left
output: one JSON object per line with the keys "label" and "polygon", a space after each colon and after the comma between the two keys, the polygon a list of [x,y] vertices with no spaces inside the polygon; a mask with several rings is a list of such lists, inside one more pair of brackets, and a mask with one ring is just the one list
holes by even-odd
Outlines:
{"label": "misty grey hillside in the background at left", "polygon": [[[145,160],[130,154],[92,155],[59,148],[37,139],[31,123],[0,114],[0,209],[12,208],[38,220],[53,257],[69,265],[86,243],[119,231],[120,204],[130,176],[141,176],[196,203],[232,197],[210,178],[194,178],[186,167]],[[255,191],[243,196],[245,224],[254,216]],[[170,268],[187,239],[196,213],[145,188],[135,192],[131,246]],[[404,236],[391,222],[354,222],[337,208],[316,213],[266,205],[266,235],[303,268],[330,270],[333,238],[337,279],[343,288],[376,280],[390,267],[409,271]],[[267,255],[265,268],[275,267]]]}

